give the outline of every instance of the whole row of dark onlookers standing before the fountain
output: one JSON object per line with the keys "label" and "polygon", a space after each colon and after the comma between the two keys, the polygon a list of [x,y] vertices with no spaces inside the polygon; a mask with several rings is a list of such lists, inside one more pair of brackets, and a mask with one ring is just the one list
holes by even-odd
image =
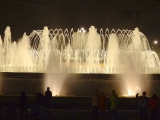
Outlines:
{"label": "whole row of dark onlookers standing before the fountain", "polygon": [[[35,93],[36,101],[31,104],[32,116],[40,116],[42,118],[46,117],[46,109],[50,108],[50,101],[52,98],[52,92],[50,88],[47,87],[45,95],[42,93]],[[158,97],[156,94],[153,94],[152,98],[149,99],[146,96],[146,92],[142,93],[142,96],[136,94],[136,99],[139,101],[139,111],[140,111],[140,120],[147,120],[147,109],[150,107],[151,110],[151,120],[157,120],[157,110],[158,110]],[[94,94],[91,97],[92,106],[93,106],[93,118],[95,120],[105,119],[105,110],[108,108],[110,117],[113,120],[117,119],[117,106],[118,106],[118,95],[115,90],[112,90],[109,98],[106,98],[104,92],[99,93],[98,89],[95,90]],[[19,97],[19,104],[21,108],[21,117],[25,113],[25,116],[28,117],[27,108],[28,108],[28,97],[25,92],[22,92]]]}

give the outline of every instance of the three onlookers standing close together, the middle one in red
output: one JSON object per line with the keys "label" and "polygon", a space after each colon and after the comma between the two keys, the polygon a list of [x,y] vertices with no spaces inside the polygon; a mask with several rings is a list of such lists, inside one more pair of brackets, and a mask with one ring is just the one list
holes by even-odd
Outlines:
{"label": "three onlookers standing close together, the middle one in red", "polygon": [[[116,119],[116,110],[118,103],[118,95],[115,90],[112,90],[112,94],[107,102],[106,96],[104,92],[98,93],[98,89],[96,89],[95,94],[92,95],[92,106],[93,106],[93,117],[94,119],[105,118],[105,109],[108,103],[109,110],[111,112],[111,119]],[[100,116],[98,114],[98,110],[100,110]]]}

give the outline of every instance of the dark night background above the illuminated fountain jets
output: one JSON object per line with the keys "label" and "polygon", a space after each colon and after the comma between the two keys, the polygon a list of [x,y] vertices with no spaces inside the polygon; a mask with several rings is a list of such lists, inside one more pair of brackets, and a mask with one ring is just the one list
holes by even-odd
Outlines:
{"label": "dark night background above the illuminated fountain jets", "polygon": [[12,40],[33,30],[71,28],[77,31],[91,25],[104,30],[138,27],[158,54],[160,40],[160,0],[0,0],[0,35],[7,26]]}

